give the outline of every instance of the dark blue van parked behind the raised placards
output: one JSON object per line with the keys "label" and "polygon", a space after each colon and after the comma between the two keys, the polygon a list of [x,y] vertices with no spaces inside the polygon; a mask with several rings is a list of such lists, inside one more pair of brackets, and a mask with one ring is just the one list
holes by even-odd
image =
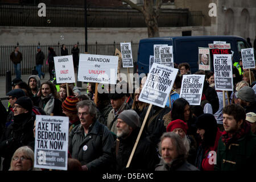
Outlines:
{"label": "dark blue van parked behind the raised placards", "polygon": [[[187,62],[191,72],[198,71],[198,47],[209,47],[213,41],[230,43],[234,51],[234,61],[241,58],[241,49],[250,48],[245,39],[240,36],[175,36],[162,38],[148,38],[139,41],[137,72],[148,73],[150,55],[154,56],[154,44],[168,44],[173,46],[174,63]],[[212,63],[211,63],[212,64]]]}

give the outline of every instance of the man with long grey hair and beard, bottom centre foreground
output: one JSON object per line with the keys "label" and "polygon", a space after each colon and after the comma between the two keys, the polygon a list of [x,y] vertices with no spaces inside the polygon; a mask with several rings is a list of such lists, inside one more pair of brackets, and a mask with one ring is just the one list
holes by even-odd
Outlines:
{"label": "man with long grey hair and beard, bottom centre foreground", "polygon": [[162,156],[155,171],[199,171],[187,162],[187,150],[181,137],[174,133],[164,133],[160,138],[159,153]]}

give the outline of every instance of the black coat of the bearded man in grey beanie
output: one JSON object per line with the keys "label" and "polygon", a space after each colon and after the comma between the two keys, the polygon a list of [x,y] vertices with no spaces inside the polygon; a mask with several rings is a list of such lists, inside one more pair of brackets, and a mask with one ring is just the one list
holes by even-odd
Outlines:
{"label": "black coat of the bearded man in grey beanie", "polygon": [[159,163],[160,159],[154,144],[150,142],[146,135],[142,134],[134,152],[133,159],[131,160],[130,167],[126,169],[140,129],[141,128],[138,127],[132,131],[131,135],[126,139],[119,138],[117,155],[115,154],[117,140],[115,140],[112,147],[112,154],[115,158],[114,171],[154,171],[156,164]]}

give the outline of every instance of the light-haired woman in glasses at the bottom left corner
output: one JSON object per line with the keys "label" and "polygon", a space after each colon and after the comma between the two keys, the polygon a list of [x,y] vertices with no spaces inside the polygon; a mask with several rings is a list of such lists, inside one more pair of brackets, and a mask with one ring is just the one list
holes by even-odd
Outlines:
{"label": "light-haired woman in glasses at the bottom left corner", "polygon": [[13,154],[9,171],[41,171],[34,168],[34,152],[28,146],[19,147]]}

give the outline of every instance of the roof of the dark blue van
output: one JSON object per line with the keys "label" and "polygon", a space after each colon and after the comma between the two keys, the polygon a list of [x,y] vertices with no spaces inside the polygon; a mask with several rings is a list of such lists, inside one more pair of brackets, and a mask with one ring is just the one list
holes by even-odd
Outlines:
{"label": "roof of the dark blue van", "polygon": [[164,36],[164,37],[158,37],[158,38],[147,38],[147,39],[141,39],[139,42],[154,42],[159,40],[174,40],[174,39],[187,39],[187,40],[193,40],[193,39],[228,39],[228,38],[238,38],[243,39],[241,36],[233,36],[233,35],[207,35],[207,36]]}

